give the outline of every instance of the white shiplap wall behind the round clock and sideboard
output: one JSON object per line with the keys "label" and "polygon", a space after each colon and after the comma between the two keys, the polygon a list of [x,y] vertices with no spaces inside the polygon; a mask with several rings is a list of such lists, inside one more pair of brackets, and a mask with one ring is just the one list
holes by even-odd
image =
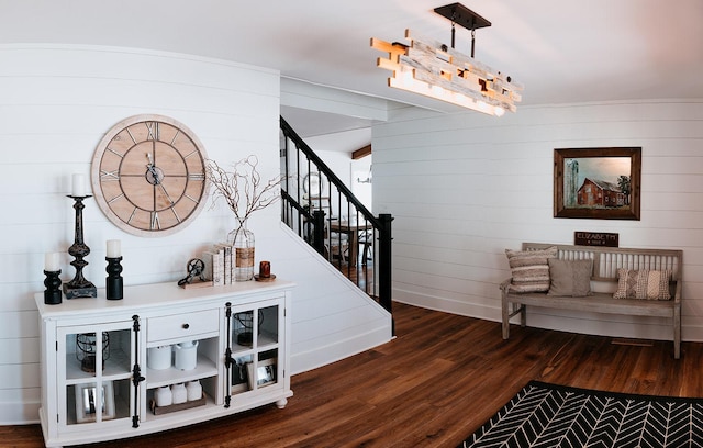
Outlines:
{"label": "white shiplap wall behind the round clock and sideboard", "polygon": [[[46,251],[62,251],[64,280],[75,273],[70,177],[86,175],[96,145],[119,121],[141,113],[172,116],[230,164],[249,154],[264,178],[279,169],[280,79],[275,70],[161,52],[94,46],[0,46],[0,424],[37,421],[38,326]],[[87,186],[87,188],[89,188]],[[122,240],[127,284],[176,281],[188,259],[224,238],[231,213],[205,208],[175,235],[140,238],[112,225],[91,200],[83,211],[91,248],[86,278],[104,285],[105,240]],[[257,259],[295,281],[293,373],[390,339],[390,317],[331,272],[281,228],[278,206],[252,219]],[[88,300],[88,299],[86,299]]]}

